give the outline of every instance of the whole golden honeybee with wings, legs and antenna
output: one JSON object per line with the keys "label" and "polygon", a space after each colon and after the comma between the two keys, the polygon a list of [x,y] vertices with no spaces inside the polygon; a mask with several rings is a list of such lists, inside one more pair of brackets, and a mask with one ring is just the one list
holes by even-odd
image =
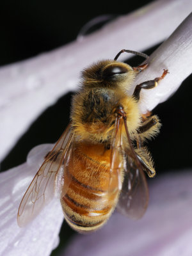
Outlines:
{"label": "whole golden honeybee with wings, legs and antenna", "polygon": [[159,132],[156,115],[141,115],[141,90],[157,86],[166,76],[129,88],[148,64],[131,67],[117,61],[122,52],[148,58],[141,52],[122,50],[114,60],[85,68],[81,88],[72,99],[70,124],[45,157],[20,202],[20,227],[33,220],[56,194],[65,220],[78,232],[91,232],[108,221],[115,208],[131,218],[141,218],[148,205],[143,173],[156,171],[146,138]]}

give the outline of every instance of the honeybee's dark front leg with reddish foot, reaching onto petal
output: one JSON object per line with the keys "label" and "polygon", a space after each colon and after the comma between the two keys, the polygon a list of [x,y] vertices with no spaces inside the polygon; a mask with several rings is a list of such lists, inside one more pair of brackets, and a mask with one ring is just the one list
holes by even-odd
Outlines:
{"label": "honeybee's dark front leg with reddish foot, reaching onto petal", "polygon": [[167,73],[168,73],[168,70],[164,69],[161,77],[156,77],[153,80],[145,81],[141,84],[138,84],[136,86],[136,88],[134,89],[134,93],[132,94],[132,97],[134,97],[137,101],[139,101],[141,89],[152,89],[152,88],[156,87],[159,80],[163,79]]}

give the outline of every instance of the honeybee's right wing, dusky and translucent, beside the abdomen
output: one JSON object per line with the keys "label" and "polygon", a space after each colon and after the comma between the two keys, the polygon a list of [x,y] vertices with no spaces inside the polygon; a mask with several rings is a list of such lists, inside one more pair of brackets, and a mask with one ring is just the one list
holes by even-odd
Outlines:
{"label": "honeybee's right wing, dusky and translucent, beside the abdomen", "polygon": [[[122,120],[120,120],[123,122]],[[148,186],[125,124],[126,138],[122,155],[124,157],[124,182],[118,200],[117,209],[119,212],[132,219],[143,216],[148,206]],[[129,146],[127,146],[129,145]]]}

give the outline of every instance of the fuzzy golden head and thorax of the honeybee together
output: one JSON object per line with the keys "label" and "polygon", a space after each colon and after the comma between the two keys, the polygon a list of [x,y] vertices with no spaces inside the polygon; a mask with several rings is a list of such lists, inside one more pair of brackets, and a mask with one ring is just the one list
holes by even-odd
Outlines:
{"label": "fuzzy golden head and thorax of the honeybee together", "polygon": [[98,61],[83,70],[81,90],[73,98],[71,112],[74,131],[82,140],[108,141],[118,106],[124,108],[131,136],[136,132],[141,122],[138,102],[127,95],[136,74],[131,66],[116,60]]}

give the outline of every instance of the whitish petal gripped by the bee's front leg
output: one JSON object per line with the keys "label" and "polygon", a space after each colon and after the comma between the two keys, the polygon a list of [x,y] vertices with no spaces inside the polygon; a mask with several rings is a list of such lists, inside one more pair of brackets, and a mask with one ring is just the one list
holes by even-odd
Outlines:
{"label": "whitish petal gripped by the bee's front leg", "polygon": [[163,69],[169,74],[152,90],[141,90],[140,108],[151,111],[175,93],[180,84],[191,74],[192,67],[192,13],[173,34],[148,58],[149,66],[139,74],[135,84],[161,76]]}

